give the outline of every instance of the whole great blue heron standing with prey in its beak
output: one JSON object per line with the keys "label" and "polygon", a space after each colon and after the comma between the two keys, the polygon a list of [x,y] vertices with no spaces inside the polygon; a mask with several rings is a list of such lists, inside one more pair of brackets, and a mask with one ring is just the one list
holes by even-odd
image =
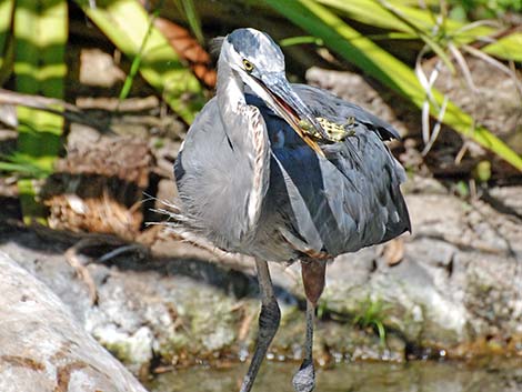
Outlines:
{"label": "whole great blue heron standing with prey in its beak", "polygon": [[268,34],[238,29],[221,40],[217,94],[190,128],[174,174],[188,230],[255,259],[262,304],[241,392],[250,391],[280,321],[267,261],[301,262],[307,334],[293,386],[309,392],[327,261],[410,230],[404,170],[383,143],[391,138],[396,131],[363,109],[290,84]]}

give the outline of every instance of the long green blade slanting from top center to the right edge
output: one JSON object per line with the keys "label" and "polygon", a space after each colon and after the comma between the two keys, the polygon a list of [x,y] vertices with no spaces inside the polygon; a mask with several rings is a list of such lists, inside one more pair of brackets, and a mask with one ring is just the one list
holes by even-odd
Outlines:
{"label": "long green blade slanting from top center to the right edge", "polygon": [[[368,74],[399,92],[418,108],[422,108],[425,92],[414,72],[403,62],[382,50],[371,40],[344,23],[327,8],[312,0],[264,0],[309,33],[321,38],[333,51],[354,63]],[[443,96],[433,90],[436,105],[431,105],[431,114],[439,114]],[[513,167],[522,171],[522,159],[504,142],[483,127],[475,127],[471,115],[464,113],[454,103],[448,102],[442,122],[466,138],[490,149]]]}

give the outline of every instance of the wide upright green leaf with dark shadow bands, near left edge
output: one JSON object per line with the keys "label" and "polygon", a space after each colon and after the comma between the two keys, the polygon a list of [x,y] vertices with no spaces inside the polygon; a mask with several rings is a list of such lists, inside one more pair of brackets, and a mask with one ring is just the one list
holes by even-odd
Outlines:
{"label": "wide upright green leaf with dark shadow bands, near left edge", "polygon": [[[19,92],[63,98],[67,21],[66,0],[17,0],[14,74]],[[62,147],[63,117],[23,107],[17,108],[17,155],[41,172],[51,172]],[[20,180],[18,187],[24,221],[43,219],[31,180]]]}

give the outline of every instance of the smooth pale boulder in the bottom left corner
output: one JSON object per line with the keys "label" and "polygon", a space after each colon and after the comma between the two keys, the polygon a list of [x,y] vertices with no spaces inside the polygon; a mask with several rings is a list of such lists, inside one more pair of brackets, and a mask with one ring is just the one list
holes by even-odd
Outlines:
{"label": "smooth pale boulder in the bottom left corner", "polygon": [[0,252],[0,390],[145,392],[42,282]]}

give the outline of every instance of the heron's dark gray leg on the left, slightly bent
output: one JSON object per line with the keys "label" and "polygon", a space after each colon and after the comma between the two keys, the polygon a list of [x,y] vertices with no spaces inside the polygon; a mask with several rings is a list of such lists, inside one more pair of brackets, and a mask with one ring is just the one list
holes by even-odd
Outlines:
{"label": "heron's dark gray leg on the left, slightly bent", "polygon": [[267,355],[268,348],[278,331],[279,321],[281,319],[278,301],[273,294],[272,280],[270,279],[268,263],[255,259],[255,267],[258,269],[259,289],[261,292],[259,332],[258,341],[255,342],[255,351],[253,353],[252,361],[250,362],[247,375],[243,379],[240,392],[249,392],[252,388],[255,375],[258,375],[259,368]]}

